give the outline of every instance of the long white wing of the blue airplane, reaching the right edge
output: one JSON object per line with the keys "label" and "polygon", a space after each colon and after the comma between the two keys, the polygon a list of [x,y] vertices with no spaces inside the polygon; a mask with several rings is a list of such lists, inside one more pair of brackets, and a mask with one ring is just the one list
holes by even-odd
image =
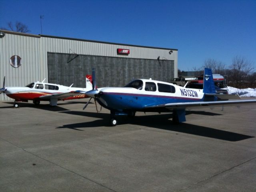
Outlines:
{"label": "long white wing of the blue airplane, reaching the right edge", "polygon": [[256,100],[228,100],[228,101],[210,101],[210,102],[185,102],[185,103],[168,103],[163,105],[156,106],[146,106],[144,109],[147,110],[174,110],[174,109],[195,109],[195,108],[214,108],[216,106],[242,106],[242,105],[250,105],[252,103],[256,103]]}

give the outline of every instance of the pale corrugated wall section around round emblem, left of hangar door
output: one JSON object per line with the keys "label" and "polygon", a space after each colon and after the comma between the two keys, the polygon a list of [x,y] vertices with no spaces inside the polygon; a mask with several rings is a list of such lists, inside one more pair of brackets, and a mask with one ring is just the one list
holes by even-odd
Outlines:
{"label": "pale corrugated wall section around round emblem, left of hangar door", "polygon": [[[26,84],[41,80],[42,70],[40,70],[39,50],[40,36],[23,36],[6,33],[0,38],[0,86],[25,86]],[[18,68],[10,65],[10,58],[14,55],[20,56],[22,64]],[[5,100],[10,100],[5,96]],[[4,100],[1,94],[0,100]]]}

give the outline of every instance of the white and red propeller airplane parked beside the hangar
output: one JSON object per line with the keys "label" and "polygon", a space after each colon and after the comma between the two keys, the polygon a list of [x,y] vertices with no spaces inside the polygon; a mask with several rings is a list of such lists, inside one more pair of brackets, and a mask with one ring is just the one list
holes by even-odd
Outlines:
{"label": "white and red propeller airplane parked beside the hangar", "polygon": [[[44,79],[45,80],[45,79]],[[0,89],[0,93],[5,93],[8,97],[13,98],[14,108],[19,105],[17,102],[28,102],[33,100],[33,103],[38,105],[40,101],[49,101],[50,106],[56,106],[58,100],[72,100],[82,99],[88,96],[84,94],[78,94],[74,91],[89,91],[92,90],[92,76],[86,75],[86,88],[77,88],[71,86],[63,86],[52,83],[32,82],[25,87],[5,87],[5,77],[3,88]]]}

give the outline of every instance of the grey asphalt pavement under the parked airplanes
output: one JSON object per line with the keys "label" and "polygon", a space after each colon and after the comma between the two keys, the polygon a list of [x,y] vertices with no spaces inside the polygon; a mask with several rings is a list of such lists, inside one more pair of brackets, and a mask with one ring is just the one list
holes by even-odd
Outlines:
{"label": "grey asphalt pavement under the parked airplanes", "polygon": [[[256,104],[137,112],[109,126],[89,99],[0,102],[1,192],[255,192]],[[98,105],[98,110],[100,106]]]}

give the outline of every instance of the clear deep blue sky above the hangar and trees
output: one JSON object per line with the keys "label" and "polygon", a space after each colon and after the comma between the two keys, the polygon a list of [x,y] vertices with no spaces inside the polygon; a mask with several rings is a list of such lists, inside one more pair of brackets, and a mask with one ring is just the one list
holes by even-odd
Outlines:
{"label": "clear deep blue sky above the hangar and trees", "polygon": [[[178,49],[178,68],[235,56],[256,68],[256,0],[0,0],[0,27],[31,34]],[[254,70],[256,71],[256,70]]]}

